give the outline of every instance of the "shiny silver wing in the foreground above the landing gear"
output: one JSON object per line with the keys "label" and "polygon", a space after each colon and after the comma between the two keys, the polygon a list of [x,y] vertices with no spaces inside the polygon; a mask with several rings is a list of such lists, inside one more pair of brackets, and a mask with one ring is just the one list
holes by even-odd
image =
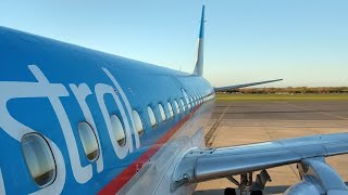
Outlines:
{"label": "shiny silver wing in the foreground above the landing gear", "polygon": [[[219,178],[228,179],[232,176],[347,153],[348,133],[276,140],[231,147],[195,148],[178,162],[173,174],[173,185],[175,188],[186,183]],[[327,169],[331,168],[327,167]],[[324,171],[324,178],[327,177],[332,181],[334,181],[333,178],[338,177],[337,173],[331,177],[330,170],[323,167],[319,168],[320,171]],[[336,187],[341,186],[347,190],[341,180],[337,179],[337,181]]]}

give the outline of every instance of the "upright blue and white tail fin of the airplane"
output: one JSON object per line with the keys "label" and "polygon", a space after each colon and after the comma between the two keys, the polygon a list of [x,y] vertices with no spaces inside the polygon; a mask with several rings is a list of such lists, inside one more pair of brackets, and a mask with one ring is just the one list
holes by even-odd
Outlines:
{"label": "upright blue and white tail fin of the airplane", "polygon": [[200,30],[198,38],[198,51],[197,51],[197,61],[194,74],[198,76],[203,76],[203,44],[204,44],[204,5],[202,6],[202,15],[200,21]]}

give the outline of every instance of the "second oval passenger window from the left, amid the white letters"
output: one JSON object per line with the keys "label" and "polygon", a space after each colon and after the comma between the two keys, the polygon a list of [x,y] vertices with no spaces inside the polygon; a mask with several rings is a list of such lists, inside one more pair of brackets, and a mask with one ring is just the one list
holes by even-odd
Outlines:
{"label": "second oval passenger window from the left, amid the white letters", "polygon": [[79,122],[78,134],[85,155],[90,161],[95,161],[99,156],[99,146],[94,129],[87,122]]}

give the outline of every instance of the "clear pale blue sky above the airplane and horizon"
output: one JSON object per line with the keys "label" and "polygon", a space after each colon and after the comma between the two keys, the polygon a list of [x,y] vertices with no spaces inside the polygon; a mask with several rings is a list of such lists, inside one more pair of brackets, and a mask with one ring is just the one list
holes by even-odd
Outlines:
{"label": "clear pale blue sky above the airplane and horizon", "polygon": [[2,0],[0,25],[191,72],[202,3],[213,86],[348,86],[347,0]]}

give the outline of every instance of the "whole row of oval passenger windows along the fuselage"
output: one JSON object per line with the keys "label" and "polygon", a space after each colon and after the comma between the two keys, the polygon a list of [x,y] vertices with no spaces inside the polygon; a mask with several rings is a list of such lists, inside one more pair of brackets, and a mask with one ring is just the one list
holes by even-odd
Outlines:
{"label": "whole row of oval passenger windows along the fuselage", "polygon": [[[147,107],[147,114],[149,116],[149,121],[152,129],[156,129],[159,122],[164,122],[167,119],[173,119],[175,117],[175,114],[179,115],[182,112],[185,113],[186,110],[190,110],[192,107],[203,103],[203,95],[199,94],[188,96],[184,89],[182,90],[182,92],[186,104],[184,103],[183,98],[178,99],[178,101],[174,100],[173,104],[171,104],[171,102],[166,102],[167,109],[164,109],[161,103],[158,104],[158,119],[156,117],[157,115],[153,112],[153,107],[151,107],[150,105]],[[133,109],[132,115],[135,122],[135,128],[139,136],[142,136],[145,133],[142,118],[135,109]],[[111,115],[110,121],[115,136],[111,139],[115,139],[121,147],[124,146],[126,144],[126,135],[122,120],[116,115]],[[97,160],[100,154],[100,150],[94,128],[88,122],[84,121],[78,123],[77,129],[87,159],[89,161]],[[21,142],[25,161],[35,183],[39,187],[45,187],[51,184],[55,179],[57,172],[54,157],[47,140],[39,133],[28,133],[22,138]]]}

